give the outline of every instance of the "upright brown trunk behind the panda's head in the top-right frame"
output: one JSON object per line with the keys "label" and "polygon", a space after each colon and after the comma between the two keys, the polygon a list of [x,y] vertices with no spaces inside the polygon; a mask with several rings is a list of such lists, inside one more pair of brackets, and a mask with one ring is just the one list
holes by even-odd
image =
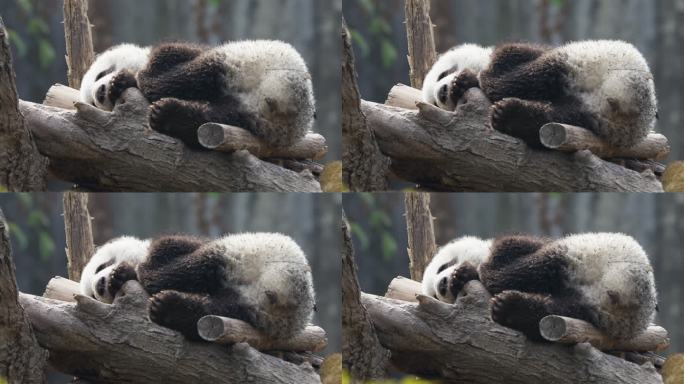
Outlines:
{"label": "upright brown trunk behind the panda's head in the top-right frame", "polygon": [[406,38],[409,77],[414,88],[423,88],[425,75],[437,61],[435,36],[430,19],[430,0],[406,0]]}

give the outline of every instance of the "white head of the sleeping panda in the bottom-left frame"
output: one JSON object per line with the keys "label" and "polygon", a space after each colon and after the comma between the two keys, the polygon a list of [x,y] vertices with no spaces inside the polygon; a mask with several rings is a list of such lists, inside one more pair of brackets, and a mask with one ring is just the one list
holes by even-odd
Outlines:
{"label": "white head of the sleeping panda in the bottom-left frame", "polygon": [[81,273],[81,294],[105,303],[114,298],[107,291],[109,275],[122,262],[140,264],[147,257],[149,240],[122,236],[99,247]]}

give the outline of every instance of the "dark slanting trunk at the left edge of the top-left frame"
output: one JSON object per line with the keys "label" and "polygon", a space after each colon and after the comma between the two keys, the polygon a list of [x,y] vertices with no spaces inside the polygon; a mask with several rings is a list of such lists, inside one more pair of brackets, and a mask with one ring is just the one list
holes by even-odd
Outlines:
{"label": "dark slanting trunk at the left edge of the top-left frame", "polygon": [[48,161],[33,143],[18,104],[12,53],[0,17],[0,191],[41,191]]}

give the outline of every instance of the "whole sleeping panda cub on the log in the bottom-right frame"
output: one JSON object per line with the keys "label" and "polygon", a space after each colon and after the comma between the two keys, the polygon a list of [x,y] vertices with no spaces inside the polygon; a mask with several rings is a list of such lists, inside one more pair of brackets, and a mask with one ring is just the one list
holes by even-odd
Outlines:
{"label": "whole sleeping panda cub on the log in the bottom-right frame", "polygon": [[533,340],[543,340],[547,315],[585,320],[617,340],[643,332],[655,316],[653,268],[624,234],[457,239],[426,268],[423,292],[453,302],[476,279],[493,295],[492,320]]}

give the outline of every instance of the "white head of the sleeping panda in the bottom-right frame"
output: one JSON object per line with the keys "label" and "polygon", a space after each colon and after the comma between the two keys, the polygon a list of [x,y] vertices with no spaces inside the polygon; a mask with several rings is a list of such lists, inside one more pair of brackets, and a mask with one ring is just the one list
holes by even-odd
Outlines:
{"label": "white head of the sleeping panda in the bottom-right frame", "polygon": [[423,274],[423,294],[453,303],[456,297],[449,290],[451,274],[463,263],[475,268],[487,260],[492,241],[464,236],[441,247]]}

